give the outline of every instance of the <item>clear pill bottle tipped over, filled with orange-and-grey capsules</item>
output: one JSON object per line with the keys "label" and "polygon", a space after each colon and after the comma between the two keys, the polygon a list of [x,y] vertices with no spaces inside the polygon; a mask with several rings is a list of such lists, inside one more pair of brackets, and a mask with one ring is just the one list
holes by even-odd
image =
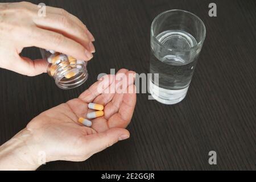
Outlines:
{"label": "clear pill bottle tipped over, filled with orange-and-grey capsules", "polygon": [[47,49],[40,49],[40,52],[43,59],[49,63],[48,75],[54,78],[59,88],[76,88],[87,80],[86,61],[76,60],[72,56]]}

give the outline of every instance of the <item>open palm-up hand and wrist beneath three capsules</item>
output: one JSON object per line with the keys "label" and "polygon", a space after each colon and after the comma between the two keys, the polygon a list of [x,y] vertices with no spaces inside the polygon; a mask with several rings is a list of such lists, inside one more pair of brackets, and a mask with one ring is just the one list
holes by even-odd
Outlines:
{"label": "open palm-up hand and wrist beneath three capsules", "polygon": [[[40,151],[45,152],[47,162],[83,161],[96,152],[112,146],[118,140],[129,138],[129,131],[124,128],[131,120],[136,103],[134,77],[128,78],[129,74],[134,75],[134,72],[121,69],[115,76],[104,76],[85,90],[79,98],[44,111],[32,119],[26,129],[10,140],[23,143],[20,144],[23,147],[19,148],[19,152],[13,152],[18,157],[10,157],[16,159],[15,168],[20,169],[19,167],[22,166],[21,169],[36,169]],[[121,77],[122,79],[119,79]],[[109,93],[109,90],[113,90],[113,93]],[[92,111],[88,109],[89,102],[105,106],[105,115],[92,119],[92,127],[82,126],[78,122],[79,117],[85,117],[86,113]],[[6,144],[3,148],[5,146]],[[1,147],[0,169],[1,166],[6,169],[8,167],[3,167],[3,164],[12,165],[12,163],[6,157],[7,162],[1,160],[1,156],[5,156],[1,153],[5,151],[3,148],[1,150]],[[6,155],[11,150],[7,151],[9,152],[6,152]],[[25,153],[26,156],[21,155]],[[19,161],[22,161],[22,164]],[[14,167],[9,166],[9,168]]]}

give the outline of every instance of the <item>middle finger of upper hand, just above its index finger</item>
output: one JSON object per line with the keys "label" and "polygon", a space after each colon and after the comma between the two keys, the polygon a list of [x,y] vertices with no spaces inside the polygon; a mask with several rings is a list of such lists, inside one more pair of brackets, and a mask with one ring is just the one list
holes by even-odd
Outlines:
{"label": "middle finger of upper hand, just above its index finger", "polygon": [[81,26],[77,26],[77,24],[73,23],[72,19],[68,17],[69,16],[48,13],[44,18],[34,19],[34,22],[40,28],[63,34],[67,38],[80,43],[88,51],[95,52],[95,48],[85,32],[86,30],[81,28]]}

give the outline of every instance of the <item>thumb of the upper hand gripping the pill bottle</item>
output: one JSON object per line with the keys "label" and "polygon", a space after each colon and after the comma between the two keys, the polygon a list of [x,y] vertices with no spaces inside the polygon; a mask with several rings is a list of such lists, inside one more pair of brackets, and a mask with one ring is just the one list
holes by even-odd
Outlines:
{"label": "thumb of the upper hand gripping the pill bottle", "polygon": [[47,72],[48,63],[46,60],[38,59],[32,61],[28,57],[20,57],[11,70],[22,75],[36,76]]}

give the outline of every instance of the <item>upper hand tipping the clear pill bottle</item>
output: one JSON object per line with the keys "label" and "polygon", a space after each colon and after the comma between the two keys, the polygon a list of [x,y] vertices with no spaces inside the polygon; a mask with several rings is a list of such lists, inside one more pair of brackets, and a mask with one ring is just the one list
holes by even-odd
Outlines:
{"label": "upper hand tipping the clear pill bottle", "polygon": [[29,2],[0,3],[0,67],[35,76],[47,71],[45,60],[21,57],[24,47],[52,49],[79,60],[92,59],[93,35],[74,15],[46,6],[46,16]]}

